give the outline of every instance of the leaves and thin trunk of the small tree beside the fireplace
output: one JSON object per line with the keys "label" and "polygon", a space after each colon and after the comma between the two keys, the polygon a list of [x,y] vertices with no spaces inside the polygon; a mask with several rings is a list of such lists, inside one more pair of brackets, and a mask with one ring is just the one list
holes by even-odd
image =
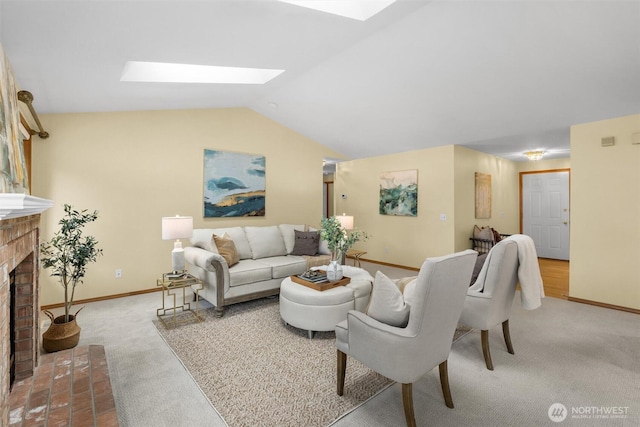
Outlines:
{"label": "leaves and thin trunk of the small tree beside the fireplace", "polygon": [[[65,204],[64,212],[58,222],[60,230],[49,242],[40,245],[40,261],[44,268],[51,269],[51,277],[58,277],[64,288],[64,316],[65,322],[69,322],[76,286],[83,283],[87,264],[95,262],[102,255],[102,249],[98,249],[95,237],[82,234],[85,225],[98,219],[98,211],[77,211]],[[45,313],[53,321],[53,315]]]}

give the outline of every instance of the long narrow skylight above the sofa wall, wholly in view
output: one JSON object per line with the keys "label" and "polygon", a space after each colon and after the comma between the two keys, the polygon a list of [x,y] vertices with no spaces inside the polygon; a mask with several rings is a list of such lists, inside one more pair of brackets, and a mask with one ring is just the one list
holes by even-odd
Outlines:
{"label": "long narrow skylight above the sofa wall, wholly in view", "polygon": [[284,70],[128,61],[121,82],[264,84]]}

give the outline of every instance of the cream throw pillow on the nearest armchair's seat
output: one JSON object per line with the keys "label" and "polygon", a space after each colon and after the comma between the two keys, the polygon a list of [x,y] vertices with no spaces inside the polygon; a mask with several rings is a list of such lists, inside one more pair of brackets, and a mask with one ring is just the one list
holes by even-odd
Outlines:
{"label": "cream throw pillow on the nearest armchair's seat", "polygon": [[409,321],[409,305],[402,292],[382,272],[376,272],[367,315],[387,325],[404,328]]}

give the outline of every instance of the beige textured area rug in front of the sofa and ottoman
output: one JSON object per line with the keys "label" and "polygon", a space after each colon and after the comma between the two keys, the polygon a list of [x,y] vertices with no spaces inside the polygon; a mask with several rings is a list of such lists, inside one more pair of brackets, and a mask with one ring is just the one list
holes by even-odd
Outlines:
{"label": "beige textured area rug in front of the sofa and ottoman", "polygon": [[154,324],[231,427],[327,426],[392,383],[348,358],[338,396],[335,333],[309,339],[286,326],[277,297],[232,305],[222,318],[202,313],[202,323]]}

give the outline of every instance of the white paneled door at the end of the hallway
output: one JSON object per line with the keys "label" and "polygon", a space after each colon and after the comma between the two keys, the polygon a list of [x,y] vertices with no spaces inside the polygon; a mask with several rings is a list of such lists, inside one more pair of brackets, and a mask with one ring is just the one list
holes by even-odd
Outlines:
{"label": "white paneled door at the end of the hallway", "polygon": [[522,173],[522,233],[540,258],[569,260],[569,171]]}

